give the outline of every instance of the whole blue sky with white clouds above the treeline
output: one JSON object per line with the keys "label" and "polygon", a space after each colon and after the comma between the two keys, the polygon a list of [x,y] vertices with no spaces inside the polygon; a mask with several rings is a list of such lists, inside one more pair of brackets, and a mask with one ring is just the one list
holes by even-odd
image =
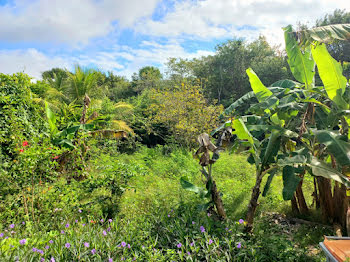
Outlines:
{"label": "whole blue sky with white clouds above the treeline", "polygon": [[336,8],[350,11],[349,0],[0,0],[0,72],[40,79],[79,63],[130,77],[234,37],[283,43],[283,26]]}

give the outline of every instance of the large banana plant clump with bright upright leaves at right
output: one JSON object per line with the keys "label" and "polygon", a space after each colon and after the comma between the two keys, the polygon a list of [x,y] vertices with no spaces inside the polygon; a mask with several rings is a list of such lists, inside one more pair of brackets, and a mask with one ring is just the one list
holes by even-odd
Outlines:
{"label": "large banana plant clump with bright upright leaves at right", "polygon": [[[284,31],[288,63],[298,82],[280,80],[265,87],[248,69],[253,91],[224,111],[222,119],[231,119],[213,132],[231,127],[236,140],[248,148],[248,161],[256,166],[256,184],[247,214],[248,231],[253,227],[262,179],[270,174],[263,191],[265,195],[277,170],[282,170],[285,200],[295,198],[294,192],[301,185],[303,176],[309,173],[317,177],[325,205],[327,201],[330,203],[329,193],[323,192],[325,187],[320,185],[327,186],[329,179],[335,181],[334,192],[338,192],[334,199],[345,199],[345,204],[348,201],[344,192],[350,182],[344,170],[350,169],[349,86],[342,76],[340,64],[322,43],[330,39],[349,40],[350,25],[299,32],[288,26]],[[323,86],[314,84],[315,66]],[[239,106],[250,101],[253,103],[248,115],[237,114]],[[254,103],[256,101],[258,103]],[[337,206],[328,215],[335,217],[336,209]],[[344,221],[344,217],[338,220]]]}

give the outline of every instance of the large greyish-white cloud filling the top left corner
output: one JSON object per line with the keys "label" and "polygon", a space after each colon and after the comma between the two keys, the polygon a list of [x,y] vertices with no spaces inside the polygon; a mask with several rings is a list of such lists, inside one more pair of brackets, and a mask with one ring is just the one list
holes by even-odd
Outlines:
{"label": "large greyish-white cloud filling the top left corner", "polygon": [[0,6],[0,41],[85,44],[152,14],[159,0],[15,0]]}

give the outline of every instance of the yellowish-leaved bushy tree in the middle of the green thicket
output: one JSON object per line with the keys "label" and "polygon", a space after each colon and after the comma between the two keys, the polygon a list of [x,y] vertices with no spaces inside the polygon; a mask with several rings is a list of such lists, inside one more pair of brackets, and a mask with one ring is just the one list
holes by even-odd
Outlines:
{"label": "yellowish-leaved bushy tree in the middle of the green thicket", "polygon": [[182,83],[173,90],[154,92],[153,123],[166,126],[177,144],[192,147],[199,134],[217,125],[221,106],[210,105],[197,85]]}

